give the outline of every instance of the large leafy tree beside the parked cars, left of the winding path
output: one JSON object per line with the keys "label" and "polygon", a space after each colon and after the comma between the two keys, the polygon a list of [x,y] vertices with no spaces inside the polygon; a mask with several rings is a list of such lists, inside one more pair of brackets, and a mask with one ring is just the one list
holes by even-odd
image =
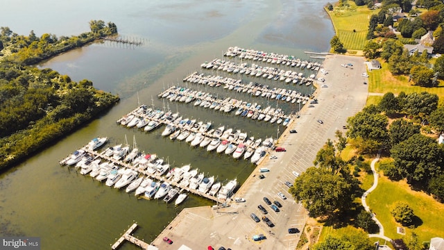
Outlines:
{"label": "large leafy tree beside the parked cars, left of the winding path", "polygon": [[352,206],[353,185],[330,169],[309,167],[296,178],[290,193],[309,211],[310,216],[332,216],[336,210]]}

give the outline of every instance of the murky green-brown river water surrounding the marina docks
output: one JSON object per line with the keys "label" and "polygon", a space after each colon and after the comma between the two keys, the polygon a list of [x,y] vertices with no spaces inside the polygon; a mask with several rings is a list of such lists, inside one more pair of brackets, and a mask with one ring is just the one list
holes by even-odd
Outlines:
{"label": "murky green-brown river water surrounding the marina docks", "polygon": [[[144,42],[139,47],[94,43],[38,65],[56,69],[74,81],[87,78],[96,88],[121,97],[121,102],[108,113],[0,175],[0,235],[41,237],[42,249],[108,249],[133,221],[141,226],[135,235],[151,242],[182,208],[212,205],[199,197],[190,197],[178,208],[162,201],[137,200],[133,194],[108,188],[74,169],[60,167],[58,162],[97,135],[110,138],[110,144],[124,143],[125,138],[133,144],[135,138],[139,149],[157,153],[171,165],[191,163],[200,172],[217,176],[219,181],[237,178],[242,183],[254,168],[245,160],[191,149],[185,142],[172,142],[160,136],[162,128],[144,133],[117,126],[115,121],[138,103],[145,103],[178,111],[184,117],[212,121],[214,126],[238,128],[248,132],[248,136],[275,138],[279,133],[276,125],[168,103],[157,99],[157,94],[171,85],[185,86],[182,78],[202,70],[201,63],[222,58],[228,47],[284,53],[308,60],[303,51],[327,51],[334,35],[330,19],[323,12],[325,0],[1,2],[8,11],[2,12],[0,26],[8,26],[15,33],[28,34],[33,30],[37,35],[76,35],[89,30],[89,20],[103,19],[117,24],[123,38]],[[282,83],[264,83],[280,84],[282,88]],[[262,106],[282,106],[289,112],[299,108],[222,88],[187,87],[219,97],[257,101]],[[297,88],[304,93],[313,91],[305,85]],[[123,244],[121,249],[137,248]]]}

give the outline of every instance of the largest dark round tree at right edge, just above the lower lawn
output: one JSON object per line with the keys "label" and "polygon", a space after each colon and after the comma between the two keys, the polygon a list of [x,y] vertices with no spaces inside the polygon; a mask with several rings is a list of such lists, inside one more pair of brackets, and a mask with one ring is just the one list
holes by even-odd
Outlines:
{"label": "largest dark round tree at right edge, just above the lower lawn", "polygon": [[409,183],[427,183],[443,171],[443,149],[434,138],[414,134],[390,151],[395,167]]}

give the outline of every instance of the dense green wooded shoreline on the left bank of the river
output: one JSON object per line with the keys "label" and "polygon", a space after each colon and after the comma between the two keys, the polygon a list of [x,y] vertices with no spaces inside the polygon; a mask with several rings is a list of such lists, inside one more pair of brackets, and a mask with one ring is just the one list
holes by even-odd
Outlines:
{"label": "dense green wooded shoreline on the left bank of the river", "polygon": [[37,38],[0,28],[0,170],[41,150],[54,140],[108,110],[119,97],[78,83],[53,69],[31,64],[117,33],[117,26],[93,20],[91,32],[71,38]]}

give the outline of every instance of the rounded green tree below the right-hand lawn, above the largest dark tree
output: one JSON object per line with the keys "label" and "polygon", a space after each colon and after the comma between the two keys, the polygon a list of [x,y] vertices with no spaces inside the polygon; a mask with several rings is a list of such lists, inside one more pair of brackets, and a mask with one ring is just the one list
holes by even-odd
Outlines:
{"label": "rounded green tree below the right-hand lawn, above the largest dark tree", "polygon": [[419,117],[430,115],[438,107],[438,96],[429,92],[413,92],[404,101],[404,111]]}

